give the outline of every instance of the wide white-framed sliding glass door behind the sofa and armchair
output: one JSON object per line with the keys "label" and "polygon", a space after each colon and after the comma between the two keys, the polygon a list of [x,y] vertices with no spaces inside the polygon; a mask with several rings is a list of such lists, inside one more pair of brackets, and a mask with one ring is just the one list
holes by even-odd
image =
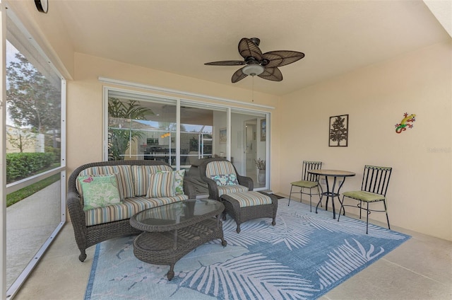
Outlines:
{"label": "wide white-framed sliding glass door behind the sofa and armchair", "polygon": [[[203,158],[222,157],[241,175],[268,187],[266,113],[105,88],[105,159],[150,159],[185,169],[190,180],[207,193],[197,167]],[[259,175],[260,174],[260,175]]]}

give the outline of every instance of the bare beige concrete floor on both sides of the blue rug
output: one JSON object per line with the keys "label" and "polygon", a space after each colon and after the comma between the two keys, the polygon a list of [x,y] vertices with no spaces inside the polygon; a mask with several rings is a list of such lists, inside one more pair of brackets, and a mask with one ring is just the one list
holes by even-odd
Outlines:
{"label": "bare beige concrete floor on both sides of the blue rug", "polygon": [[[412,238],[321,299],[452,299],[452,242],[391,229]],[[94,250],[88,248],[80,262],[72,225],[66,224],[14,299],[83,299]]]}

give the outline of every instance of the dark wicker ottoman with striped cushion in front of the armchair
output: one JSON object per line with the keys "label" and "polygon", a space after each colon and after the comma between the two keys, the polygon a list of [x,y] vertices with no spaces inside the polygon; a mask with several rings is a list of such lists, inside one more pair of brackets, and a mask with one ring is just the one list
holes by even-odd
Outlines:
{"label": "dark wicker ottoman with striped cushion in front of the armchair", "polygon": [[234,192],[220,197],[225,205],[223,219],[230,214],[237,223],[237,233],[240,232],[240,224],[259,219],[272,218],[273,226],[276,224],[276,211],[278,209],[278,197],[266,192]]}

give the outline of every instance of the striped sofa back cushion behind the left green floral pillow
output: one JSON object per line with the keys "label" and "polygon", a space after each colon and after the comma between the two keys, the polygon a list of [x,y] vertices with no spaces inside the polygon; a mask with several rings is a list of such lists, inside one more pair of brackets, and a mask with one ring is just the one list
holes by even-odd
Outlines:
{"label": "striped sofa back cushion behind the left green floral pillow", "polygon": [[[133,191],[133,175],[131,171],[131,166],[126,165],[118,165],[118,166],[97,166],[91,168],[85,168],[85,170],[81,171],[78,175],[107,175],[107,174],[119,174],[119,178],[121,178],[121,189],[120,192],[123,193],[122,196],[124,198],[130,198],[135,196],[135,192]],[[76,182],[77,190],[81,194],[81,185]]]}

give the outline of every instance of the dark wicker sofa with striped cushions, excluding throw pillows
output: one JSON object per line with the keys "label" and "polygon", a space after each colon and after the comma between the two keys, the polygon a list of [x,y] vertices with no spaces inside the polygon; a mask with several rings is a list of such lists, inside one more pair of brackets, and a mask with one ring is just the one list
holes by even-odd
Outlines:
{"label": "dark wicker sofa with striped cushions, excluding throw pillows", "polygon": [[[137,234],[141,231],[133,229],[129,219],[137,212],[150,207],[172,202],[193,199],[196,191],[188,180],[184,180],[184,194],[174,197],[146,197],[146,185],[149,185],[148,174],[172,171],[169,164],[162,161],[102,161],[79,166],[69,176],[67,205],[73,231],[82,262],[86,258],[85,250],[97,243],[117,236]],[[119,175],[124,200],[107,207],[83,210],[83,194],[78,176],[86,175]]]}

